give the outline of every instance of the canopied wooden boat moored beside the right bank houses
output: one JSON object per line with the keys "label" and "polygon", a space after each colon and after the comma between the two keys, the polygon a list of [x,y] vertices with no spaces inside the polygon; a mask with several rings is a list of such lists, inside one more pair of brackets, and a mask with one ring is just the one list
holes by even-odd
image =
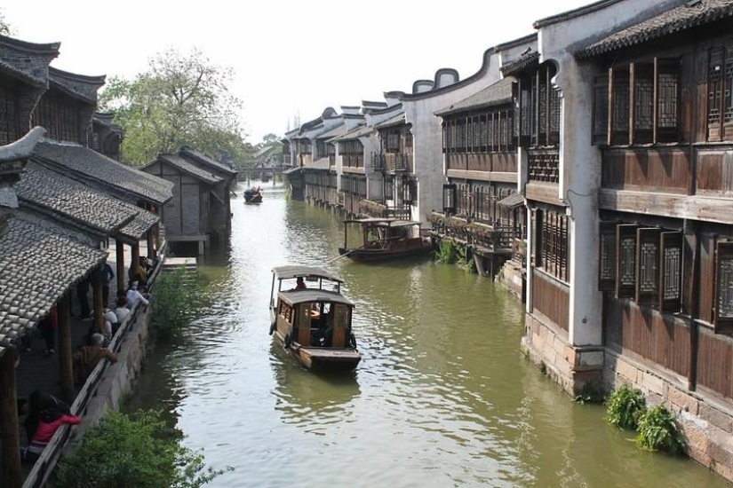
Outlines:
{"label": "canopied wooden boat moored beside the right bank houses", "polygon": [[395,218],[357,218],[344,221],[341,256],[355,261],[380,261],[428,255],[433,249],[429,237],[420,235],[420,223]]}

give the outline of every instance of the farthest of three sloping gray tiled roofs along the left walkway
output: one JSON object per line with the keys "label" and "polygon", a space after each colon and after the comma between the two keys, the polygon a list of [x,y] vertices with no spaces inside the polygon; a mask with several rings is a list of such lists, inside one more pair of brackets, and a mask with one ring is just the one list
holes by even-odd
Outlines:
{"label": "farthest of three sloping gray tiled roofs along the left walkway", "polygon": [[158,205],[173,197],[173,184],[170,181],[117,162],[89,147],[44,141],[38,143],[34,153],[83,177],[120,188],[124,193],[134,193]]}

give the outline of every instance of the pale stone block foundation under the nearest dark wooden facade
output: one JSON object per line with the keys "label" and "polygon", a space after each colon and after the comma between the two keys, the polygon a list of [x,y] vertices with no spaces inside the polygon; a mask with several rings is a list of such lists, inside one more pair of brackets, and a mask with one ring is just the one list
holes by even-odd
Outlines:
{"label": "pale stone block foundation under the nearest dark wooden facade", "polygon": [[733,412],[729,405],[704,392],[689,391],[686,378],[610,351],[605,355],[603,377],[612,389],[622,384],[640,389],[650,406],[665,404],[681,426],[689,457],[733,480]]}

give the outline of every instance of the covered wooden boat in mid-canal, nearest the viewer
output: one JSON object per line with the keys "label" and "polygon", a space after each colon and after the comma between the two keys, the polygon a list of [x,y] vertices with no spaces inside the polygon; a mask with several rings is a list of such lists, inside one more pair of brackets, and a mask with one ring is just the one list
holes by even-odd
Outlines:
{"label": "covered wooden boat in mid-canal, nearest the viewer", "polygon": [[354,303],[341,295],[342,282],[310,266],[273,268],[270,334],[308,369],[352,370],[362,358],[351,330]]}

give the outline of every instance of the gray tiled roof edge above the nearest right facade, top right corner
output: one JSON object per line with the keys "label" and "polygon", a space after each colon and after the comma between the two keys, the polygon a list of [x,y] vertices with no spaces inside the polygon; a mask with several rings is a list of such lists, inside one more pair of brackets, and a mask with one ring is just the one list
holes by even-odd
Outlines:
{"label": "gray tiled roof edge above the nearest right facade, top right corner", "polygon": [[687,2],[586,46],[586,48],[578,51],[578,57],[597,56],[604,52],[645,43],[663,35],[673,34],[731,16],[733,16],[733,0]]}

